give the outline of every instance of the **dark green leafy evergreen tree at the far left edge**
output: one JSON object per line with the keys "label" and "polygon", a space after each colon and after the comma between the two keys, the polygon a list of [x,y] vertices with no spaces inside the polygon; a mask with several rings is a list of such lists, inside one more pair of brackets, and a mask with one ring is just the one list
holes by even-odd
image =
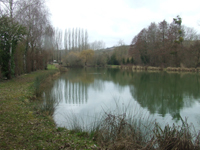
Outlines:
{"label": "dark green leafy evergreen tree at the far left edge", "polygon": [[14,53],[18,41],[25,35],[25,28],[12,18],[0,18],[0,67],[5,77],[11,79],[14,74]]}

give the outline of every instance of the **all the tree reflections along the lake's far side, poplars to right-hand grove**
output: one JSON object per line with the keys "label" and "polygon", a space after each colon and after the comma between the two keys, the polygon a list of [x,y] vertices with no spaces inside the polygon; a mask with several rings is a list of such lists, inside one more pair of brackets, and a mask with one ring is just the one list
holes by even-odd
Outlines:
{"label": "all the tree reflections along the lake's far side, poplars to right-hand grove", "polygon": [[180,110],[200,101],[198,74],[168,74],[122,71],[119,69],[72,69],[55,81],[52,96],[59,102],[82,104],[88,100],[88,88],[103,91],[105,81],[113,82],[119,91],[129,85],[134,99],[151,113],[176,120]]}

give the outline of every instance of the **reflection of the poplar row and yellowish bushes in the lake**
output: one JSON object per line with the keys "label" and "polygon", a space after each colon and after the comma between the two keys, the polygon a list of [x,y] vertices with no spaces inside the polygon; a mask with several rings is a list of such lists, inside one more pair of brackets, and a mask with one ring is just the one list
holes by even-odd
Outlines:
{"label": "reflection of the poplar row and yellowish bushes in the lake", "polygon": [[94,80],[94,76],[101,74],[91,73],[85,69],[72,69],[66,75],[55,81],[52,97],[58,102],[67,104],[84,104],[88,101],[88,88],[102,90],[104,84],[101,80]]}

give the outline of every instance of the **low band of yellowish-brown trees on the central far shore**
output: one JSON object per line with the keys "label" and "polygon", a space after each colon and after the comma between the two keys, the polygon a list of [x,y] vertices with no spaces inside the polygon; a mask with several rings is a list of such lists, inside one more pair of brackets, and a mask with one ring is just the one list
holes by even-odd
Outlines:
{"label": "low band of yellowish-brown trees on the central far shore", "polygon": [[[111,48],[104,48],[103,41],[95,41],[89,44],[89,49],[82,51],[70,50],[62,59],[66,66],[105,66],[105,65],[121,65],[133,64],[133,57],[128,56],[129,46],[123,41]],[[91,49],[90,49],[91,48]]]}

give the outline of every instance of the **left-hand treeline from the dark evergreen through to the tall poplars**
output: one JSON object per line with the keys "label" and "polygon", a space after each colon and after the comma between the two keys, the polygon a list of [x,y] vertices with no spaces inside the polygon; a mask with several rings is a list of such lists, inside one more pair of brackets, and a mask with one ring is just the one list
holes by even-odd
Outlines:
{"label": "left-hand treeline from the dark evergreen through to the tall poplars", "polygon": [[84,50],[91,48],[105,48],[105,43],[89,43],[82,28],[66,29],[63,35],[51,25],[45,0],[0,1],[0,79],[46,69],[48,62],[61,63],[76,52],[78,64],[88,65],[91,57]]}

